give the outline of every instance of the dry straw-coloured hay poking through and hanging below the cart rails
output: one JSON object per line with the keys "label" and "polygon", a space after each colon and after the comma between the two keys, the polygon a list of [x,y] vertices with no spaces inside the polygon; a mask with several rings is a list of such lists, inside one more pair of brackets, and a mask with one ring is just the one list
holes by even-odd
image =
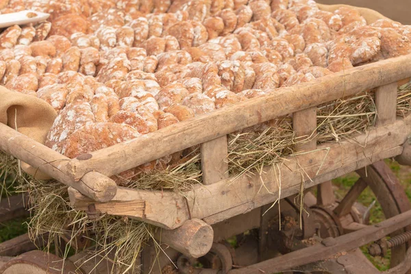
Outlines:
{"label": "dry straw-coloured hay poking through and hanging below the cart rails", "polygon": [[[399,88],[398,113],[405,116],[410,109],[411,85],[402,86]],[[260,173],[264,166],[279,164],[284,156],[293,153],[297,142],[306,142],[312,137],[316,137],[319,143],[349,139],[373,126],[375,118],[373,95],[363,92],[319,106],[317,133],[304,140],[296,140],[289,116],[276,121],[275,127],[267,127],[265,123],[258,131],[229,134],[227,162],[230,176]],[[189,160],[178,166],[140,174],[129,187],[179,192],[190,190],[202,182],[199,149],[193,149],[186,158]],[[4,162],[0,163],[4,166]],[[15,160],[13,165],[16,166]],[[138,252],[155,229],[151,225],[116,216],[103,215],[89,220],[84,212],[77,212],[69,206],[66,186],[55,181],[26,179],[21,190],[29,192],[32,202],[32,220],[29,223],[32,236],[51,232],[50,239],[53,239],[63,233],[74,236],[86,232],[95,244],[93,256],[101,258],[108,253],[114,254],[110,260],[114,260],[117,273],[136,266]],[[300,198],[302,201],[302,196]]]}

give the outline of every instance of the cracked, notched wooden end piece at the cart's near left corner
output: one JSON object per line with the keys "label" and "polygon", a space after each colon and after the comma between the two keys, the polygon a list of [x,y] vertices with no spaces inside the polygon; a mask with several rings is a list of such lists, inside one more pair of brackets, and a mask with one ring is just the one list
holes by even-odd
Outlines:
{"label": "cracked, notched wooden end piece at the cart's near left corner", "polygon": [[184,197],[174,192],[134,190],[119,187],[116,196],[108,203],[96,203],[74,188],[69,188],[71,206],[88,211],[94,204],[97,213],[145,221],[164,229],[175,229],[190,219]]}

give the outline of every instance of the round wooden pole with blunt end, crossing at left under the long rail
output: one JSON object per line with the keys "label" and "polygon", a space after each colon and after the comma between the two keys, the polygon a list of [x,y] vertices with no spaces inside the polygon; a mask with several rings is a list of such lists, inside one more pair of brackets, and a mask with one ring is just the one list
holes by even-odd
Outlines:
{"label": "round wooden pole with blunt end, crossing at left under the long rail", "polygon": [[69,158],[2,123],[0,132],[0,150],[23,160],[34,169],[38,168],[39,171],[79,190],[95,201],[110,201],[116,194],[117,185],[109,177],[90,171],[80,181],[75,182],[67,175],[66,163],[69,162]]}

